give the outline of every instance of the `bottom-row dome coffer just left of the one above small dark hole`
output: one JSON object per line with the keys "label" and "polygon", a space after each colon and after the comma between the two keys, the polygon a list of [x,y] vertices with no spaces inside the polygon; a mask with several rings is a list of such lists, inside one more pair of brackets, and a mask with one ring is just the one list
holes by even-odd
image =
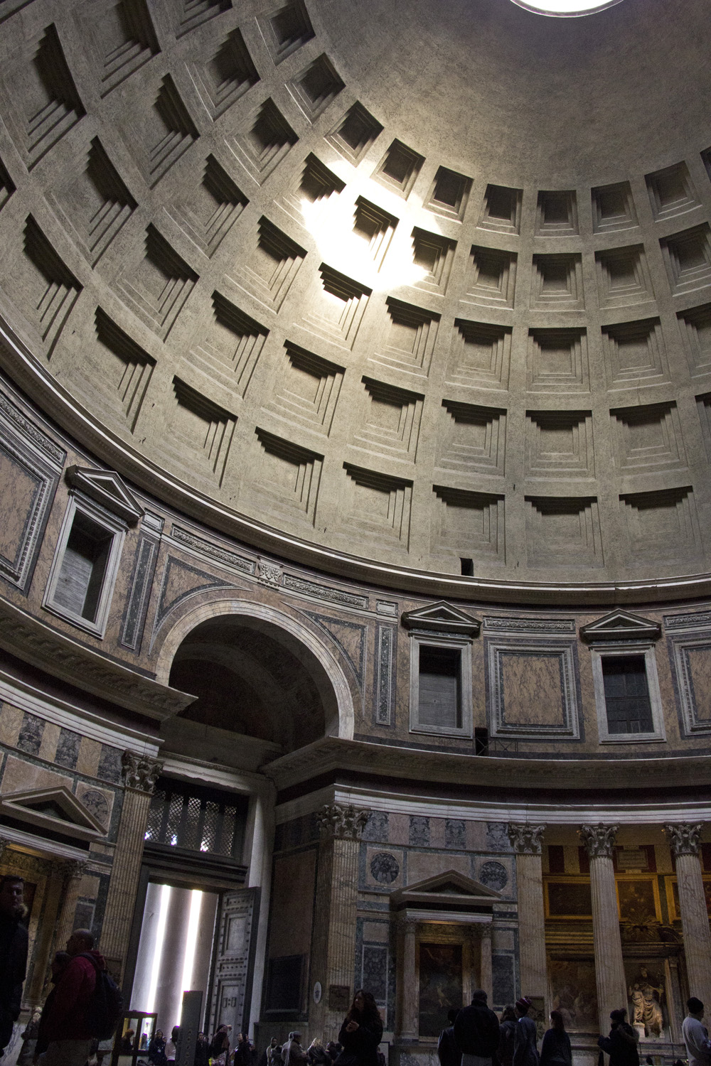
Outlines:
{"label": "bottom-row dome coffer just left of the one above small dark hole", "polygon": [[387,547],[409,546],[413,482],[351,463],[343,464],[341,529]]}

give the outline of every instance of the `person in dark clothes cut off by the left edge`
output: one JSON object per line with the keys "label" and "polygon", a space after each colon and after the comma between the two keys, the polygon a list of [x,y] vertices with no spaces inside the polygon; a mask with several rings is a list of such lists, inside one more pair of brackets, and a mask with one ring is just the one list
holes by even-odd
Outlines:
{"label": "person in dark clothes cut off by the left edge", "polygon": [[27,972],[27,928],[21,877],[0,877],[0,1057],[10,1044],[19,1018],[22,985]]}

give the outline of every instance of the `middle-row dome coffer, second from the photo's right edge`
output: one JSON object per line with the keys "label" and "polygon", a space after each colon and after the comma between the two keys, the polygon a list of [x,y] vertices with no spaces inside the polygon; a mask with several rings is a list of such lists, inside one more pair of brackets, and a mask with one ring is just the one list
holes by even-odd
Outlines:
{"label": "middle-row dome coffer, second from the photo's right edge", "polygon": [[668,381],[669,371],[658,318],[602,327],[609,389],[628,389]]}

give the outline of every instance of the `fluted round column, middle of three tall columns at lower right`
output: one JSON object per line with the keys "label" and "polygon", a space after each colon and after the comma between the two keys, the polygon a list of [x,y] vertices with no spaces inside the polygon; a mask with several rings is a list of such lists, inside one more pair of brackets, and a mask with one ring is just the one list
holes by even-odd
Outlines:
{"label": "fluted round column, middle of three tall columns at lower right", "polygon": [[627,1007],[627,981],[612,865],[618,828],[618,825],[582,825],[578,830],[591,860],[595,981],[601,1033],[610,1029],[610,1012]]}

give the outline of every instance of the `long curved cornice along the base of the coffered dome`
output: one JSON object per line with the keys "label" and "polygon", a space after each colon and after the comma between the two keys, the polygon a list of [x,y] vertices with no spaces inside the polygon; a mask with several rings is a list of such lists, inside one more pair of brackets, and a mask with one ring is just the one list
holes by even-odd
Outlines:
{"label": "long curved cornice along the base of the coffered dome", "polygon": [[389,565],[311,544],[239,514],[151,463],[83,407],[32,354],[2,317],[0,367],[41,410],[122,478],[214,530],[260,551],[271,552],[323,574],[432,599],[532,603],[536,607],[633,604],[711,596],[711,574],[708,572],[623,582],[556,584],[495,581]]}

